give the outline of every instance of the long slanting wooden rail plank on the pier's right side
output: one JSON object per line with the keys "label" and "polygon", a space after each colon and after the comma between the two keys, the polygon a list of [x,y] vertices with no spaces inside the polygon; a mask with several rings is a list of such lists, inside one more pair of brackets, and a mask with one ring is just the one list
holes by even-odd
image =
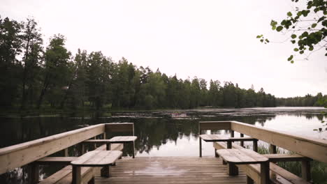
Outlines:
{"label": "long slanting wooden rail plank on the pier's right side", "polygon": [[231,121],[231,129],[300,155],[327,163],[327,141]]}

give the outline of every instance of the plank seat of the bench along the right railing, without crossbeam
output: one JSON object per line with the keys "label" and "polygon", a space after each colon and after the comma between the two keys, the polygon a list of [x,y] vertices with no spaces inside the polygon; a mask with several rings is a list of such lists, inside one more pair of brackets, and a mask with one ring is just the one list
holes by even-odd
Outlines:
{"label": "plank seat of the bench along the right railing, without crossbeam", "polygon": [[[213,146],[215,149],[226,149],[227,144],[224,142],[214,142]],[[242,146],[238,144],[232,144],[232,148],[243,148]],[[269,154],[271,155],[271,154]],[[286,156],[285,156],[286,157]],[[299,159],[301,156],[294,156],[294,159]],[[277,156],[272,156],[271,158],[277,159]],[[252,180],[255,183],[260,183],[260,164],[242,164],[242,165],[236,165],[238,168],[240,168],[242,171],[249,176],[249,178],[252,178]],[[276,176],[276,174],[278,176]],[[275,177],[271,177],[274,176]],[[251,182],[249,182],[251,183]],[[274,164],[270,162],[270,183],[300,183],[300,184],[309,184],[310,182],[305,181],[303,178],[300,178],[299,176],[296,176],[295,174],[292,174],[291,172],[287,171],[286,169],[283,169],[282,167],[277,166],[277,164]]]}

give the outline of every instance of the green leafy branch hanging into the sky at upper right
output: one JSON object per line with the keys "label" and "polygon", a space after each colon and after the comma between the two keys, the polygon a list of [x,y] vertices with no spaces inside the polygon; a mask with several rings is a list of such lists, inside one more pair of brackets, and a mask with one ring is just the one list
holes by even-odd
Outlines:
{"label": "green leafy branch hanging into the sky at upper right", "polygon": [[[297,5],[298,0],[292,1]],[[327,50],[327,1],[307,1],[304,9],[296,7],[293,12],[288,12],[286,15],[286,19],[280,22],[272,20],[270,26],[273,31],[283,31],[284,34],[291,33],[290,42],[298,45],[294,52],[305,54],[305,52],[314,52],[322,48]],[[256,38],[259,38],[261,43],[269,43],[269,40],[263,35],[256,36]],[[305,58],[307,59],[310,54],[306,54]],[[325,56],[327,56],[327,52]],[[287,61],[293,63],[293,55],[289,56]]]}

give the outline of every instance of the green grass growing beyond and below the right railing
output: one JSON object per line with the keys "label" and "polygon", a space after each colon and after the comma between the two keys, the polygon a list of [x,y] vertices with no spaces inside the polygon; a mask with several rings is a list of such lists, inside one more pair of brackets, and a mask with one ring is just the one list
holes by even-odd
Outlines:
{"label": "green grass growing beyond and below the right railing", "polygon": [[[269,150],[265,146],[259,146],[258,152],[261,154],[268,154]],[[289,151],[282,151],[277,148],[277,153],[291,153]],[[297,176],[301,176],[300,162],[277,162],[279,167],[290,171]],[[311,174],[313,183],[327,184],[327,163],[318,162],[316,160],[311,162]]]}

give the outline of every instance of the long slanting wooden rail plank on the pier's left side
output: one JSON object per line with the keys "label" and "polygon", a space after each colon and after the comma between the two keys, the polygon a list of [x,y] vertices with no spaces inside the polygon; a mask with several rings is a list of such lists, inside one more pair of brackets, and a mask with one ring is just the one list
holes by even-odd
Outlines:
{"label": "long slanting wooden rail plank on the pier's left side", "polygon": [[104,132],[105,125],[92,125],[0,149],[0,174],[61,151]]}

